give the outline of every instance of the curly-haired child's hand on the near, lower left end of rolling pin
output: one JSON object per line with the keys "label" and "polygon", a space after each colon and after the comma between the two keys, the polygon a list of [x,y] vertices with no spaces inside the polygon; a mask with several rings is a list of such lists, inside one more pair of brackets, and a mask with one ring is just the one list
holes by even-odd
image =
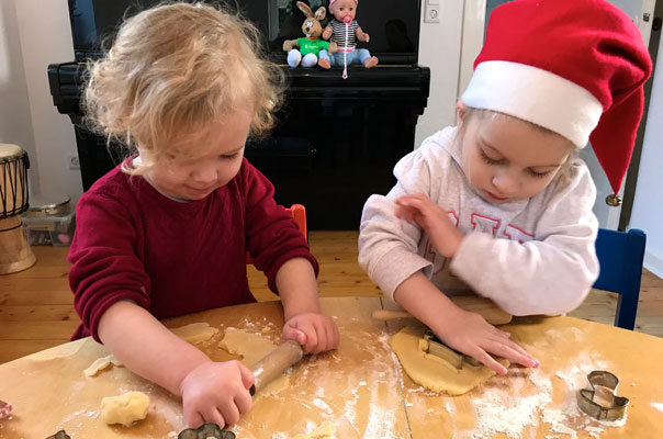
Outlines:
{"label": "curly-haired child's hand on the near, lower left end of rolling pin", "polygon": [[239,420],[251,408],[249,389],[254,374],[239,361],[207,361],[193,369],[180,384],[184,419],[189,427],[204,423],[221,427]]}

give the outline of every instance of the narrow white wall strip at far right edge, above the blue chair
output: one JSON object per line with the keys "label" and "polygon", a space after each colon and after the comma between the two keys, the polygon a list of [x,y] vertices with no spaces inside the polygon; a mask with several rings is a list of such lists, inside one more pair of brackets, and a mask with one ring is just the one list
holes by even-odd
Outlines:
{"label": "narrow white wall strip at far right edge, above the blue chair", "polygon": [[663,278],[663,44],[659,45],[658,67],[644,130],[642,157],[629,228],[647,233],[644,267]]}

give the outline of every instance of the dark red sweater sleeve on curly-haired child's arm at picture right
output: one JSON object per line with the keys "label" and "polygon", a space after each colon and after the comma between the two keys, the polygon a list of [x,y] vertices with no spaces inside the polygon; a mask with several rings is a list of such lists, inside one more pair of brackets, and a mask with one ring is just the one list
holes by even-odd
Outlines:
{"label": "dark red sweater sleeve on curly-haired child's arm at picture right", "polygon": [[293,258],[307,259],[317,277],[317,260],[295,221],[274,201],[271,182],[246,159],[240,172],[246,191],[247,249],[254,258],[254,266],[267,275],[270,290],[279,293],[277,272]]}

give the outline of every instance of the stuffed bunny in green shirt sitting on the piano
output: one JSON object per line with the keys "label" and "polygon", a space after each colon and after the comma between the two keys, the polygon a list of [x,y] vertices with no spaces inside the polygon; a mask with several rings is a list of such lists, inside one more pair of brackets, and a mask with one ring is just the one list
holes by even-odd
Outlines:
{"label": "stuffed bunny in green shirt sitting on the piano", "polygon": [[[326,15],[325,7],[319,7],[315,14],[308,4],[297,1],[297,8],[304,12],[306,20],[302,24],[303,38],[286,40],[283,42],[283,50],[288,52],[288,65],[290,67],[313,67],[316,64],[324,69],[332,67],[329,54],[336,52],[336,43],[328,43],[319,38],[323,33],[321,20]],[[295,47],[299,47],[297,50]]]}

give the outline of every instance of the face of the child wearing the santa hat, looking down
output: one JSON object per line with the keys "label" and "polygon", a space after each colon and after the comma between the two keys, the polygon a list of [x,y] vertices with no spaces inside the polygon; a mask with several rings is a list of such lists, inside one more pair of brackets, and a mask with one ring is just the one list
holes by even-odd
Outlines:
{"label": "face of the child wearing the santa hat, looking down", "polygon": [[516,117],[474,114],[462,139],[462,167],[470,183],[495,204],[527,200],[552,181],[573,145]]}

